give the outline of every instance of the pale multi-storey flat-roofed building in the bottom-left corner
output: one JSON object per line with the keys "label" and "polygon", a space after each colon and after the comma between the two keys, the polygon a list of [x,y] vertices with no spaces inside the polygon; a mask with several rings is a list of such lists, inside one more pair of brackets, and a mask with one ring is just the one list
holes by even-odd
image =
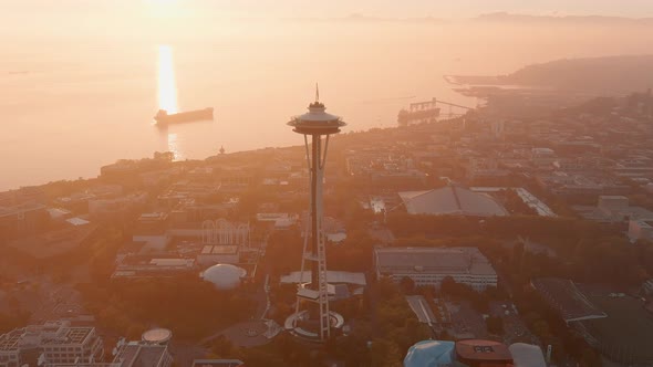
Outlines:
{"label": "pale multi-storey flat-roofed building in the bottom-left corner", "polygon": [[69,321],[30,325],[0,335],[0,367],[93,363],[102,359],[102,345],[94,327]]}

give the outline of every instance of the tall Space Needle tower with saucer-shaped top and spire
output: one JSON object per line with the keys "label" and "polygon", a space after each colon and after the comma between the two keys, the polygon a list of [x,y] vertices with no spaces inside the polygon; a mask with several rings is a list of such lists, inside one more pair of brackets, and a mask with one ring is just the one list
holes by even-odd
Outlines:
{"label": "tall Space Needle tower with saucer-shaped top and spire", "polygon": [[[324,233],[322,231],[322,181],[324,177],[324,164],[326,162],[326,150],[331,134],[340,133],[340,128],[346,125],[340,117],[325,112],[324,104],[320,102],[320,90],[315,85],[315,102],[309,105],[309,112],[293,117],[288,125],[293,132],[304,136],[307,148],[307,161],[311,171],[311,198],[310,198],[310,232],[304,232],[304,248],[302,254],[300,284],[297,291],[297,305],[294,315],[290,316],[290,323],[296,335],[309,338],[325,340],[331,336],[331,317],[335,313],[329,312],[329,294],[326,283],[326,252],[324,247]],[[324,138],[322,138],[324,136]],[[309,144],[310,137],[310,144]],[[310,248],[308,243],[310,242]],[[311,281],[302,283],[304,265],[311,270]],[[300,312],[301,302],[317,304],[317,308]],[[315,333],[319,317],[319,329]],[[342,317],[338,315],[338,319]],[[298,322],[305,322],[308,329],[298,325]],[[287,323],[288,324],[288,323]]]}

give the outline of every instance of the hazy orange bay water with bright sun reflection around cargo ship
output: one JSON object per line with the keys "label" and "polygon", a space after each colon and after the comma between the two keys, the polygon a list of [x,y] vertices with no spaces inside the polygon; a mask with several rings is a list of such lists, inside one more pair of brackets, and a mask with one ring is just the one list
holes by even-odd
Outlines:
{"label": "hazy orange bay water with bright sun reflection around cargo ship", "polygon": [[[14,41],[0,49],[0,189],[94,177],[102,165],[155,150],[186,159],[220,146],[298,145],[284,123],[304,111],[315,82],[328,111],[349,123],[346,133],[394,126],[402,106],[434,96],[476,105],[443,74],[502,74],[554,59],[646,53],[653,44],[653,32],[638,25],[220,14],[172,25],[162,17],[142,32],[101,19],[79,32],[28,25],[18,33],[10,32],[15,21],[0,27]],[[159,108],[209,106],[213,123],[152,123]]]}

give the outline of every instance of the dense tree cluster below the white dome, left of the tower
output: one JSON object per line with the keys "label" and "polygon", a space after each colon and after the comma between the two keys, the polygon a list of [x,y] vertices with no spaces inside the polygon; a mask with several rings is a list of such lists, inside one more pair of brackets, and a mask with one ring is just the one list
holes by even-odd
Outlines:
{"label": "dense tree cluster below the white dome, left of the tower", "polygon": [[189,274],[85,283],[77,286],[97,324],[131,338],[152,326],[170,328],[184,339],[199,339],[228,324],[246,319],[255,303],[234,292],[218,292]]}

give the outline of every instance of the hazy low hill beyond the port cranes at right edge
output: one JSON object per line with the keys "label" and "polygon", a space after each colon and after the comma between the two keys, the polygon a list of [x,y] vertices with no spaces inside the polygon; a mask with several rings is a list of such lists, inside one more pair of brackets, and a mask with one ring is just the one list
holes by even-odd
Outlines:
{"label": "hazy low hill beyond the port cranes at right edge", "polygon": [[498,76],[500,84],[624,94],[653,87],[653,55],[559,60]]}

